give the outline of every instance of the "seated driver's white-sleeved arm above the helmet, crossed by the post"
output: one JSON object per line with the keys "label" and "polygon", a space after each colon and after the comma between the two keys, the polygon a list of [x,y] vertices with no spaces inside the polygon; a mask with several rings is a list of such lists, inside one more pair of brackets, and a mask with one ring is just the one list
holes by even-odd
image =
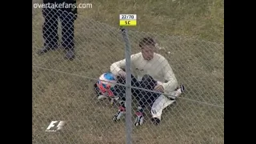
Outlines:
{"label": "seated driver's white-sleeved arm above the helmet, crossed by the post", "polygon": [[[134,65],[134,62],[137,61],[137,59],[141,56],[140,53],[138,54],[132,54],[130,56],[130,62],[131,62],[131,66]],[[122,59],[121,61],[118,62],[114,62],[111,66],[110,66],[110,72],[114,75],[119,75],[120,71],[123,72],[123,70],[126,69],[126,59]]]}

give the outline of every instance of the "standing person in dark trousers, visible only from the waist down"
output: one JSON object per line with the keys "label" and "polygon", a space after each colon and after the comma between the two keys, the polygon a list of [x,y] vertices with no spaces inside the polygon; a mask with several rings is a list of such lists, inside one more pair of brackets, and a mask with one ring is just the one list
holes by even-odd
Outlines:
{"label": "standing person in dark trousers, visible only from the waist down", "polygon": [[65,58],[74,58],[74,21],[78,10],[76,0],[43,0],[45,7],[42,15],[45,22],[42,26],[43,48],[39,55],[58,48],[58,18],[62,23],[62,47],[66,50]]}

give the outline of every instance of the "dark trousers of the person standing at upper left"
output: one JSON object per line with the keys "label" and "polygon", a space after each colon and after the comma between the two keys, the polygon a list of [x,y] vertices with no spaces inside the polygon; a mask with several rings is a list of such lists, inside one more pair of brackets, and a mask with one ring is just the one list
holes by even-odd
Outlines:
{"label": "dark trousers of the person standing at upper left", "polygon": [[42,27],[44,46],[58,47],[58,18],[62,23],[62,46],[65,49],[74,49],[74,14],[65,10],[45,8],[42,10],[45,22]]}

